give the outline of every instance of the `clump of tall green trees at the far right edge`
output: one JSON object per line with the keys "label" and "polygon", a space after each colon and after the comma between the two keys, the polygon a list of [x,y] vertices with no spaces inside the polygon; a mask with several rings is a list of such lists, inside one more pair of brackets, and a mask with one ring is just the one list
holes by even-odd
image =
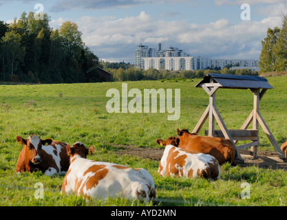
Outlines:
{"label": "clump of tall green trees at the far right edge", "polygon": [[282,27],[268,28],[259,57],[260,72],[281,72],[287,67],[287,14]]}

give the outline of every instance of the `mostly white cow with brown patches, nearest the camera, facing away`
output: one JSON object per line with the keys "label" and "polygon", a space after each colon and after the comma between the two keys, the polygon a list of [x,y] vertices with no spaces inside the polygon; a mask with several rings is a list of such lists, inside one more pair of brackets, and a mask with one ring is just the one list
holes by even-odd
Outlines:
{"label": "mostly white cow with brown patches, nearest the camera, facing away", "polygon": [[86,159],[92,149],[81,142],[67,146],[70,167],[63,179],[63,194],[81,195],[86,199],[106,199],[125,197],[151,201],[156,196],[153,178],[143,168]]}

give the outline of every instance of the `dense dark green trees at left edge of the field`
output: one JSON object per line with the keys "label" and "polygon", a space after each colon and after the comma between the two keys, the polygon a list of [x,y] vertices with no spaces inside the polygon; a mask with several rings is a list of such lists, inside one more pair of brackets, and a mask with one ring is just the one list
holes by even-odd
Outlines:
{"label": "dense dark green trees at left edge of the field", "polygon": [[[76,23],[53,30],[50,17],[21,14],[11,24],[0,21],[0,81],[25,83],[98,82],[87,70],[100,66],[83,43]],[[101,67],[101,66],[100,66]]]}

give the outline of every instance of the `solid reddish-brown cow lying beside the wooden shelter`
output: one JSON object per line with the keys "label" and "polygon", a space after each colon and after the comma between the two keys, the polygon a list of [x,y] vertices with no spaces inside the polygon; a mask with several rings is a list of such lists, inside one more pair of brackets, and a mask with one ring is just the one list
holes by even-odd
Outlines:
{"label": "solid reddish-brown cow lying beside the wooden shelter", "polygon": [[199,136],[196,133],[189,133],[187,129],[177,130],[180,142],[178,147],[199,153],[205,153],[215,157],[220,165],[230,162],[236,165],[235,158],[237,151],[231,140],[219,137]]}

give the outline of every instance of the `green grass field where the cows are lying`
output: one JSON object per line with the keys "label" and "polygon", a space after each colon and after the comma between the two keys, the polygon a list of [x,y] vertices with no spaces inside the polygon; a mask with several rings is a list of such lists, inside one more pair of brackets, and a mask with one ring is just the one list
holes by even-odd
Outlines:
{"label": "green grass field where the cows are lying", "polygon": [[[169,178],[158,176],[158,161],[114,154],[116,146],[145,146],[147,151],[158,148],[156,139],[176,136],[177,128],[192,130],[209,102],[204,90],[194,87],[199,80],[127,82],[128,90],[181,89],[181,113],[176,121],[167,120],[167,112],[107,113],[110,98],[106,92],[111,88],[121,91],[122,83],[0,85],[0,206],[286,206],[285,170],[224,164],[217,181]],[[267,91],[260,112],[281,145],[287,140],[287,77],[268,78],[268,82],[275,89]],[[228,129],[239,129],[253,109],[253,94],[250,90],[219,89],[216,104]],[[201,135],[205,129],[207,123]],[[17,175],[14,169],[21,145],[15,137],[30,134],[69,144],[81,141],[95,146],[89,159],[146,168],[156,183],[157,203],[86,201],[60,194],[63,176]],[[262,129],[259,136],[259,150],[273,149]],[[43,199],[34,196],[38,182],[44,187]],[[250,199],[241,197],[244,183],[250,184]]]}

